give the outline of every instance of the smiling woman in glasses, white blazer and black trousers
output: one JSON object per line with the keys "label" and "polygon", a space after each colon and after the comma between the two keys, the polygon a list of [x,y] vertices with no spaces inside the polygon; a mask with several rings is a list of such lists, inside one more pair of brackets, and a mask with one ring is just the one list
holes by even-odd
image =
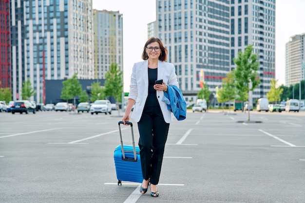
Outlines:
{"label": "smiling woman in glasses, white blazer and black trousers", "polygon": [[[159,182],[163,153],[167,135],[172,122],[171,111],[162,101],[168,85],[177,86],[177,75],[172,63],[165,62],[167,49],[159,38],[152,37],[144,45],[142,59],[133,65],[130,91],[123,123],[131,118],[137,122],[139,129],[139,148],[143,182],[140,187],[142,194],[150,185],[151,196],[158,197]],[[163,79],[161,84],[156,80]]]}

